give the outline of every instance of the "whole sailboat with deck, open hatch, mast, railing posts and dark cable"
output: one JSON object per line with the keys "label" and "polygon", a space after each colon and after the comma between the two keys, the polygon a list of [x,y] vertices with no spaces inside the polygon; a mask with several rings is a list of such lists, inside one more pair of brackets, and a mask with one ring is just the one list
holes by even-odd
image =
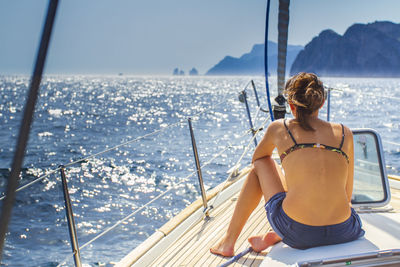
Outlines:
{"label": "whole sailboat with deck, open hatch, mast, railing posts and dark cable", "polygon": [[[51,33],[52,20],[54,20],[58,1],[50,1],[48,17],[43,33],[42,45],[38,55],[35,73],[31,82],[31,96],[28,98],[23,127],[20,130],[20,142],[14,159],[12,174],[9,179],[9,186],[6,204],[3,206],[1,221],[1,239],[7,229],[10,205],[13,202],[13,194],[17,186],[17,178],[20,172],[25,150],[27,133],[29,133],[30,119],[35,103],[35,90],[40,84],[41,73],[45,60],[48,40]],[[289,1],[281,1],[288,9]],[[268,1],[269,3],[269,1]],[[269,4],[268,4],[269,8]],[[282,7],[283,10],[283,7]],[[267,12],[268,13],[268,12]],[[288,10],[283,10],[288,14]],[[287,40],[287,27],[282,24],[285,15],[282,15],[280,40]],[[288,18],[287,18],[288,19]],[[268,21],[268,19],[267,19]],[[268,27],[267,27],[268,28]],[[285,38],[286,35],[286,38]],[[266,35],[267,39],[267,35]],[[281,95],[285,77],[285,41],[280,43],[280,63],[278,96]],[[267,68],[266,68],[267,73]],[[266,75],[266,78],[268,75]],[[268,81],[266,81],[268,85]],[[268,101],[270,100],[267,90]],[[242,97],[246,103],[246,96]],[[268,102],[268,110],[271,118],[277,118],[285,113],[284,104],[279,98],[276,99],[274,108]],[[247,105],[247,103],[246,103]],[[261,110],[261,108],[260,108]],[[274,111],[274,112],[273,112]],[[259,132],[253,126],[252,143]],[[353,129],[355,138],[355,187],[353,206],[361,214],[364,222],[364,229],[367,234],[365,238],[346,244],[318,247],[306,251],[299,251],[287,247],[283,243],[269,248],[261,253],[248,250],[247,237],[254,234],[265,233],[269,230],[265,211],[262,203],[250,217],[242,235],[237,242],[237,251],[241,252],[233,259],[215,256],[209,253],[209,247],[219,240],[225,232],[238,192],[243,184],[244,177],[249,172],[249,167],[239,169],[235,166],[229,171],[224,183],[211,189],[208,192],[202,190],[202,198],[193,202],[186,209],[172,218],[168,223],[158,229],[146,241],[128,253],[122,259],[115,259],[116,266],[217,266],[229,263],[251,266],[398,266],[400,263],[400,178],[386,174],[386,164],[383,156],[382,141],[379,134],[371,129]],[[195,140],[192,135],[193,150],[196,151]],[[25,144],[24,144],[25,143]],[[196,152],[195,158],[196,158]],[[277,158],[277,155],[275,156]],[[197,160],[196,160],[197,161]],[[197,173],[201,173],[200,165],[197,165]],[[200,180],[200,187],[201,179]],[[68,192],[68,188],[66,190]],[[11,204],[10,204],[11,203]],[[68,203],[68,196],[66,196]],[[69,210],[70,208],[68,208]],[[74,230],[73,217],[69,217],[70,233],[73,243],[75,264],[81,266],[79,260],[79,246]],[[74,237],[75,236],[75,237]],[[247,252],[247,253],[245,253]]]}

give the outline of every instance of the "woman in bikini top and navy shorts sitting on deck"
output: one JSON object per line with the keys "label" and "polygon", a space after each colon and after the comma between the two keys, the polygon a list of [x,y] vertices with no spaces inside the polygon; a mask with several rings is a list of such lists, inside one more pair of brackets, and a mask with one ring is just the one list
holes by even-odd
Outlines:
{"label": "woman in bikini top and navy shorts sitting on deck", "polygon": [[[293,248],[344,243],[364,235],[351,208],[353,135],[342,124],[318,118],[325,102],[315,74],[299,73],[286,83],[294,116],[272,122],[254,151],[253,168],[239,195],[223,239],[210,249],[233,256],[234,245],[252,211],[264,196],[273,231],[249,238],[255,251],[283,241]],[[271,158],[277,148],[284,170]]]}

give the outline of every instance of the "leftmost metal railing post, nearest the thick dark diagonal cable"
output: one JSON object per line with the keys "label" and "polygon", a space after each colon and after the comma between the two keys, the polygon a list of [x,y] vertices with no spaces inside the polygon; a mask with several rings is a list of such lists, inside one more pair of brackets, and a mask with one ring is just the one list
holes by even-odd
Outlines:
{"label": "leftmost metal railing post, nearest the thick dark diagonal cable", "polygon": [[64,193],[65,212],[67,214],[69,237],[71,238],[72,253],[74,254],[75,266],[82,267],[81,253],[79,252],[78,237],[75,229],[74,214],[72,213],[71,199],[68,193],[67,179],[65,178],[64,166],[60,166],[61,181]]}

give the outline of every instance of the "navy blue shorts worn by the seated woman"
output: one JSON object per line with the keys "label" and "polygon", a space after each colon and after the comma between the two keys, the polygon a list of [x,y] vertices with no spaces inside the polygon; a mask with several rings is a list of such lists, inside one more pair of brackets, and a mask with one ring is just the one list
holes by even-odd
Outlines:
{"label": "navy blue shorts worn by the seated woman", "polygon": [[299,223],[282,209],[285,192],[273,195],[265,204],[268,221],[272,229],[282,238],[283,243],[292,248],[307,249],[356,240],[365,232],[361,229],[360,217],[351,209],[349,219],[339,224],[312,226]]}

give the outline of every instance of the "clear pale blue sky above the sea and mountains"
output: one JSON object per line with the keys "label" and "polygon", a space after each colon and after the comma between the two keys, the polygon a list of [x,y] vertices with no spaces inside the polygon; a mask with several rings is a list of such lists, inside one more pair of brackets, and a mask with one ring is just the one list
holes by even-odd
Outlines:
{"label": "clear pale blue sky above the sea and mountains", "polygon": [[[269,40],[277,40],[271,0]],[[46,0],[0,0],[0,75],[30,74]],[[225,56],[264,42],[266,0],[60,0],[45,73],[200,74]],[[306,45],[325,29],[400,23],[399,0],[292,0],[289,44]]]}

